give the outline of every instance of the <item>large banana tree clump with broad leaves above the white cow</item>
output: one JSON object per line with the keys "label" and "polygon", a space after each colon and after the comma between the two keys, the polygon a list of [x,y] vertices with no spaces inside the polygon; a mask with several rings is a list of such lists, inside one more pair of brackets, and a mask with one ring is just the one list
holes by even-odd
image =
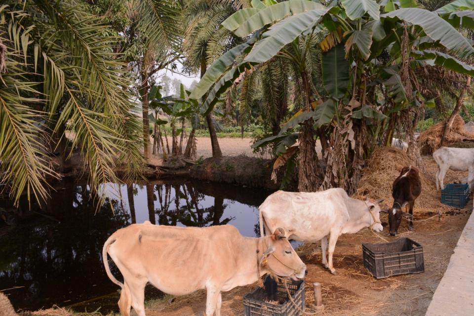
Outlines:
{"label": "large banana tree clump with broad leaves above the white cow", "polygon": [[[282,131],[300,126],[300,191],[339,186],[352,192],[373,144],[391,139],[400,124],[414,140],[418,108],[425,102],[414,68],[435,63],[463,74],[472,71],[463,60],[474,48],[453,26],[460,23],[456,16],[470,16],[469,3],[445,6],[442,13],[414,7],[415,1],[259,3],[222,23],[238,37],[252,36],[214,62],[191,97],[207,94],[203,105],[210,112],[242,73],[274,59],[289,61],[301,111]],[[445,56],[436,53],[439,47]],[[310,69],[308,56],[319,68]],[[315,134],[326,160],[322,183]]]}

